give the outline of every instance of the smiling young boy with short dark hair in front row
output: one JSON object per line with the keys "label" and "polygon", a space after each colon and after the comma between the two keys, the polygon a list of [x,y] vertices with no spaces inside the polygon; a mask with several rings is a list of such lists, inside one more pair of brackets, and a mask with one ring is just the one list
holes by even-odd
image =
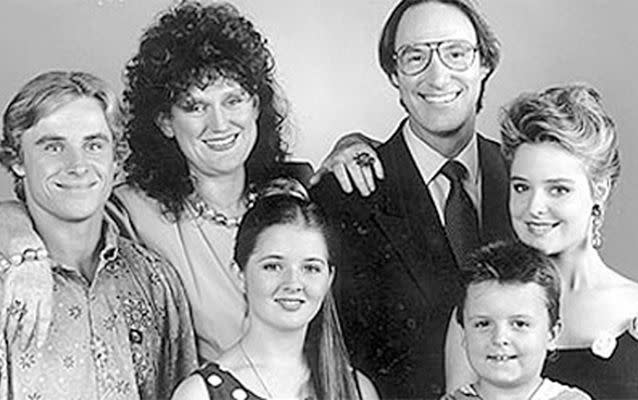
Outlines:
{"label": "smiling young boy with short dark hair in front row", "polygon": [[561,330],[560,277],[547,256],[522,243],[487,245],[463,265],[462,283],[457,320],[478,380],[445,400],[590,399],[541,377]]}

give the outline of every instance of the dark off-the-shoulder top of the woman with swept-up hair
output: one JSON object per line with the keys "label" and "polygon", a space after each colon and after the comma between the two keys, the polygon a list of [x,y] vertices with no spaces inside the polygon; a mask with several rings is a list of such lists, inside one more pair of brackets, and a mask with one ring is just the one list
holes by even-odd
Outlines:
{"label": "dark off-the-shoulder top of the woman with swept-up hair", "polygon": [[638,338],[628,331],[617,339],[610,358],[591,349],[558,351],[558,359],[546,361],[544,376],[576,386],[594,399],[638,399]]}

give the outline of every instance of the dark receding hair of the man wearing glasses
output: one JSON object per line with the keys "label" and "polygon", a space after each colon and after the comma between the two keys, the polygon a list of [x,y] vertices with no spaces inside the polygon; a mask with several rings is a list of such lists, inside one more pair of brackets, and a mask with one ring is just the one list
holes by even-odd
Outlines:
{"label": "dark receding hair of the man wearing glasses", "polygon": [[401,0],[394,6],[394,9],[383,26],[381,38],[379,39],[379,64],[388,78],[392,78],[392,76],[397,73],[397,66],[393,55],[399,22],[408,9],[415,5],[429,2],[449,4],[458,8],[469,18],[474,26],[478,39],[477,46],[481,65],[488,68],[488,73],[481,82],[481,90],[478,100],[476,101],[476,111],[479,112],[483,107],[485,85],[498,65],[501,58],[501,49],[492,28],[490,28],[487,20],[485,20],[472,0]]}

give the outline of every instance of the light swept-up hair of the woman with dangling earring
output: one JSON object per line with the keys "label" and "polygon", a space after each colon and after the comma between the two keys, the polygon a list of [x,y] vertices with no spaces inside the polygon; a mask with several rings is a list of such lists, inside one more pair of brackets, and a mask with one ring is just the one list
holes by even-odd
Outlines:
{"label": "light swept-up hair of the woman with dangling earring", "polygon": [[521,95],[503,110],[501,137],[510,166],[520,145],[551,142],[582,160],[590,183],[608,181],[613,189],[618,182],[616,127],[590,86],[557,86]]}

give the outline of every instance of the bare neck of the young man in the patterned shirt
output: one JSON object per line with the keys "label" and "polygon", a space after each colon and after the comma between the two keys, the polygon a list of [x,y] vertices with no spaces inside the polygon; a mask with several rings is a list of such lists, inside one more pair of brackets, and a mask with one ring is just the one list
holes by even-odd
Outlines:
{"label": "bare neck of the young man in the patterned shirt", "polygon": [[104,221],[102,213],[98,212],[82,221],[61,220],[50,214],[31,210],[30,214],[50,257],[92,281]]}

